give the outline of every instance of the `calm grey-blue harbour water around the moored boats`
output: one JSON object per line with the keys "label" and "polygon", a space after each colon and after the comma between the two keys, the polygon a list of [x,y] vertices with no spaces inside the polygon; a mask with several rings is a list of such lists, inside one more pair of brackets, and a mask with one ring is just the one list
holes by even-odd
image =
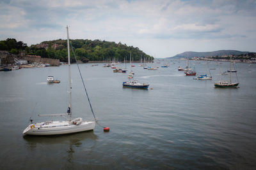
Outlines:
{"label": "calm grey-blue harbour water around the moored boats", "polygon": [[[205,81],[177,71],[183,61],[155,64],[157,71],[135,64],[135,78],[150,83],[148,90],[123,88],[128,73],[91,65],[81,71],[95,115],[110,132],[97,125],[66,136],[23,136],[29,117],[40,122],[38,113],[67,111],[67,66],[0,72],[0,169],[256,168],[255,64],[236,64],[239,89],[214,88],[215,62],[195,65],[199,74],[216,68]],[[221,71],[229,66],[223,62]],[[93,120],[76,65],[71,69],[73,117]],[[49,85],[47,76],[61,83]]]}

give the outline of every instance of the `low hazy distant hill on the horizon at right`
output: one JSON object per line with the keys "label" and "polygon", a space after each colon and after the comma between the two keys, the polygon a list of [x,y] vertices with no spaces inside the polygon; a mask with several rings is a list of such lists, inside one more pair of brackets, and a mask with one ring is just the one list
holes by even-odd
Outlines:
{"label": "low hazy distant hill on the horizon at right", "polygon": [[237,50],[219,50],[219,51],[214,51],[214,52],[184,52],[184,53],[179,53],[173,57],[168,57],[170,58],[193,58],[193,57],[207,57],[207,56],[221,56],[221,55],[241,55],[245,53],[250,53],[250,52],[240,52]]}

